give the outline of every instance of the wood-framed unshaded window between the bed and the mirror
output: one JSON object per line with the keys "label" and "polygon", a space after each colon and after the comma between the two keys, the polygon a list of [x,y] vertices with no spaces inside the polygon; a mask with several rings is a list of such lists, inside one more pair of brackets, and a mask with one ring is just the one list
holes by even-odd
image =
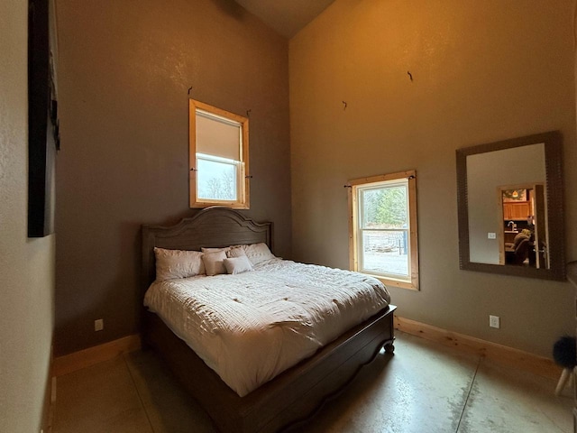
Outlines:
{"label": "wood-framed unshaded window between the bed and the mirror", "polygon": [[418,290],[415,171],[350,184],[351,268],[389,286]]}

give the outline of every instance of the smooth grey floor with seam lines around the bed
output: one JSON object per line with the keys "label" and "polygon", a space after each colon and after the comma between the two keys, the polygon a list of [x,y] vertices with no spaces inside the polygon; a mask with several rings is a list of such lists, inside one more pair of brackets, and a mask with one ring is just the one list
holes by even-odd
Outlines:
{"label": "smooth grey floor with seam lines around the bed", "polygon": [[[572,390],[398,332],[353,384],[299,431],[572,432]],[[208,433],[206,413],[151,351],[60,376],[54,433]]]}

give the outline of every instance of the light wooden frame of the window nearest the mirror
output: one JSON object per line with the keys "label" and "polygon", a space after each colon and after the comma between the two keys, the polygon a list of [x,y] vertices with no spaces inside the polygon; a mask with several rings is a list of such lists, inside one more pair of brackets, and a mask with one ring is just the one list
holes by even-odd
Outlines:
{"label": "light wooden frame of the window nearest the mirror", "polygon": [[396,280],[394,278],[375,275],[367,272],[374,278],[382,281],[388,286],[399,287],[409,290],[419,290],[418,275],[418,230],[417,230],[417,172],[415,170],[400,171],[398,173],[383,174],[369,178],[360,178],[350,180],[349,185],[349,258],[350,269],[359,271],[359,252],[358,252],[358,190],[361,187],[379,184],[389,180],[408,179],[408,218],[409,218],[409,247],[410,247],[410,281]]}

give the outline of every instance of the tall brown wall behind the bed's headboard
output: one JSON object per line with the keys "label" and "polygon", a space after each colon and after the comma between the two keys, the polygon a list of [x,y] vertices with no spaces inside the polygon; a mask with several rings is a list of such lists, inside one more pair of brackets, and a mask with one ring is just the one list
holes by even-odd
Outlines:
{"label": "tall brown wall behind the bed's headboard", "polygon": [[[290,254],[289,43],[229,0],[57,0],[56,353],[138,332],[140,227],[188,208],[191,97],[250,112],[251,209]],[[105,329],[95,333],[94,320]]]}

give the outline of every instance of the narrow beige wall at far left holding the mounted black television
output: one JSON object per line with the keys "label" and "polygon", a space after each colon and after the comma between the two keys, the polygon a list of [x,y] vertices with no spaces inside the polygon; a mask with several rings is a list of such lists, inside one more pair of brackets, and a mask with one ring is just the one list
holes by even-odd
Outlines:
{"label": "narrow beige wall at far left holding the mounted black television", "polygon": [[49,381],[54,235],[28,239],[28,2],[0,4],[0,429],[38,432]]}

